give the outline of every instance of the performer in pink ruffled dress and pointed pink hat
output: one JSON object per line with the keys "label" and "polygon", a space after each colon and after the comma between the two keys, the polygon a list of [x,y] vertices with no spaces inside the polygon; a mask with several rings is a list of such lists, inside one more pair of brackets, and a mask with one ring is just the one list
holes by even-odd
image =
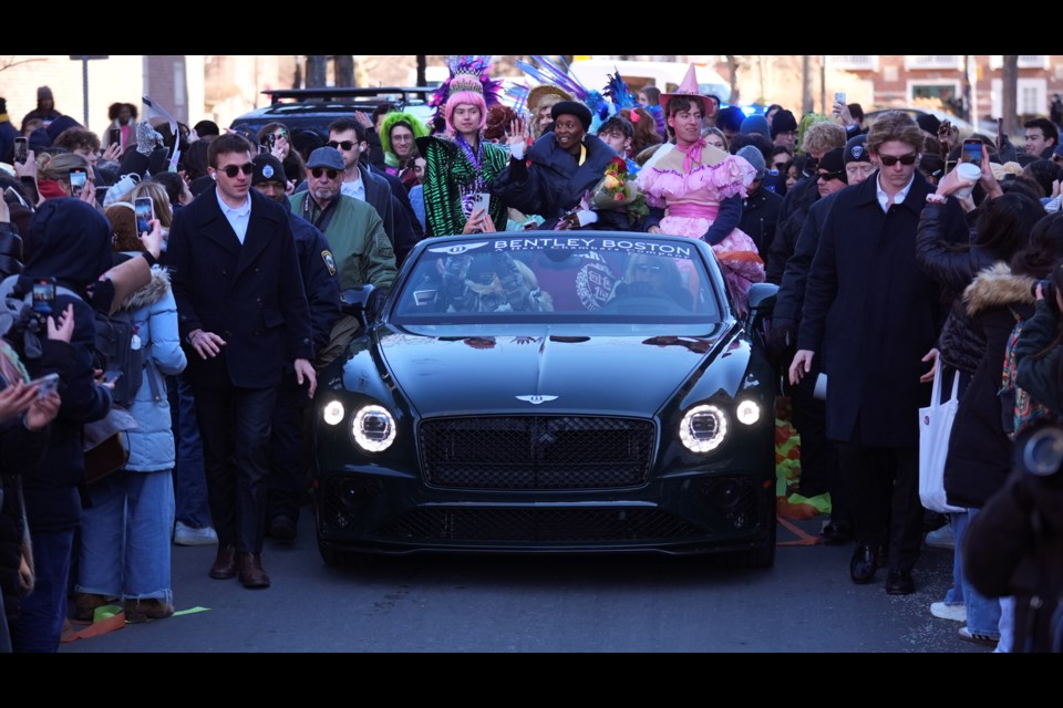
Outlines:
{"label": "performer in pink ruffled dress and pointed pink hat", "polygon": [[[737,229],[742,199],[756,170],[742,157],[708,145],[701,137],[701,116],[708,96],[698,93],[691,65],[679,92],[661,94],[667,123],[675,135],[639,173],[639,188],[651,208],[664,217],[647,230],[703,239],[712,244],[727,283],[745,309],[750,285],[764,281],[764,261],[747,233]],[[659,214],[659,212],[658,212]]]}

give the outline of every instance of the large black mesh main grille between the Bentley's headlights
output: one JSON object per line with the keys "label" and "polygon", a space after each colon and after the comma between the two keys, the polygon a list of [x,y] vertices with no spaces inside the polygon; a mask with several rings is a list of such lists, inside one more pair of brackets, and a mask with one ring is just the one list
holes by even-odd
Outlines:
{"label": "large black mesh main grille between the Bentley's headlights", "polygon": [[425,481],[497,490],[611,489],[647,481],[650,420],[586,416],[437,418],[420,427]]}

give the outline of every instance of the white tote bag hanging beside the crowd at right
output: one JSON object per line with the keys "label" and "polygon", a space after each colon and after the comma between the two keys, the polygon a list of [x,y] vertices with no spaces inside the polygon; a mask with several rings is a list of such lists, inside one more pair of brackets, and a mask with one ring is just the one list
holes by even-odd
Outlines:
{"label": "white tote bag hanging beside the crowd at right", "polygon": [[933,372],[933,393],[930,405],[919,409],[919,500],[931,511],[956,513],[964,511],[946,503],[945,458],[949,454],[952,420],[960,407],[960,373],[952,375],[952,397],[941,400],[941,362]]}

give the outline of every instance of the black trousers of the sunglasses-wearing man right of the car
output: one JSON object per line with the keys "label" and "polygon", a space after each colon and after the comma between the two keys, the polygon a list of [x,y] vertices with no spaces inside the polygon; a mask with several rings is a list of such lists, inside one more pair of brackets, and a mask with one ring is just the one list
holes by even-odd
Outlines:
{"label": "black trousers of the sunglasses-wearing man right of the car", "polygon": [[857,543],[889,549],[889,570],[910,571],[922,544],[919,448],[837,442]]}

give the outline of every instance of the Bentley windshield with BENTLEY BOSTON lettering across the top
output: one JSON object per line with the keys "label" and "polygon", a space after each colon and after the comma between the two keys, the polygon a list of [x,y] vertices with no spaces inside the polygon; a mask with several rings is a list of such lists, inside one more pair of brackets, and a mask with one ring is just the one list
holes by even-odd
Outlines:
{"label": "Bentley windshield with BENTLEY BOSTON lettering across the top", "polygon": [[421,251],[396,294],[396,324],[708,323],[726,303],[693,241],[497,235]]}

